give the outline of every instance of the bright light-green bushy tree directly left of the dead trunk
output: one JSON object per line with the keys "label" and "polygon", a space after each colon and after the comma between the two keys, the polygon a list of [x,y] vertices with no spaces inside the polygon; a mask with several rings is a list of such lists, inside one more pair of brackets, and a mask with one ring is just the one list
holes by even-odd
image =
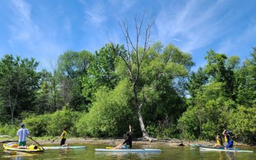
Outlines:
{"label": "bright light-green bushy tree directly left of the dead trunk", "polygon": [[90,112],[77,123],[77,132],[80,136],[120,136],[129,124],[136,122],[131,106],[132,89],[127,79],[120,81],[114,90],[102,87],[95,93]]}

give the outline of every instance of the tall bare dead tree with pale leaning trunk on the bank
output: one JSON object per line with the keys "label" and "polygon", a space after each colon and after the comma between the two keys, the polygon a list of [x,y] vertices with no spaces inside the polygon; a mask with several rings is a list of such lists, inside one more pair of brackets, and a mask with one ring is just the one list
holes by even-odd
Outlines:
{"label": "tall bare dead tree with pale leaning trunk on the bank", "polygon": [[[132,82],[132,92],[134,95],[134,101],[136,104],[136,109],[138,112],[138,117],[140,121],[140,128],[143,134],[143,138],[150,139],[148,132],[145,129],[143,122],[143,117],[141,114],[141,107],[143,100],[138,98],[138,79],[140,78],[140,68],[145,56],[150,49],[150,35],[151,28],[154,22],[149,18],[148,22],[145,24],[145,10],[143,11],[143,16],[141,20],[138,20],[137,15],[134,15],[136,35],[134,37],[135,41],[132,41],[131,32],[129,31],[127,20],[120,20],[119,26],[122,29],[122,33],[125,37],[126,49],[124,52],[120,52],[119,56],[124,60],[129,73],[129,79]],[[144,26],[145,24],[145,26]],[[144,31],[144,32],[143,32]],[[141,36],[143,36],[141,38]],[[140,40],[142,40],[140,42]],[[142,45],[140,47],[139,45]],[[140,51],[139,51],[140,50]]]}

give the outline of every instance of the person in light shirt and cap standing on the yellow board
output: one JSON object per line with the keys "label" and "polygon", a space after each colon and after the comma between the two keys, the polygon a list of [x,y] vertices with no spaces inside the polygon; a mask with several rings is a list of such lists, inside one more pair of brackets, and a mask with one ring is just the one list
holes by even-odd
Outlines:
{"label": "person in light shirt and cap standing on the yellow board", "polygon": [[20,125],[21,129],[17,131],[17,136],[19,136],[19,143],[18,147],[19,148],[26,148],[27,145],[27,136],[29,135],[30,138],[32,138],[30,132],[28,129],[25,128],[25,124]]}

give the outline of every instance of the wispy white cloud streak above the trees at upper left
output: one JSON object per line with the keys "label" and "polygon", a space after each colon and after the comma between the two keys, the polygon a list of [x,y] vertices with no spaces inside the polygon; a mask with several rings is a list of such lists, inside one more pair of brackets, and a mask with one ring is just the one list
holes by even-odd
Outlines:
{"label": "wispy white cloud streak above the trees at upper left", "polygon": [[36,61],[45,61],[45,55],[58,55],[63,52],[64,47],[56,44],[54,38],[45,36],[55,33],[53,31],[44,33],[31,19],[31,5],[22,0],[13,0],[10,8],[13,15],[10,15],[9,29],[11,35],[8,42],[15,49],[20,46],[26,50],[26,53],[22,53],[22,49],[18,47],[19,51],[16,54],[23,54],[23,56],[32,56],[33,54]]}

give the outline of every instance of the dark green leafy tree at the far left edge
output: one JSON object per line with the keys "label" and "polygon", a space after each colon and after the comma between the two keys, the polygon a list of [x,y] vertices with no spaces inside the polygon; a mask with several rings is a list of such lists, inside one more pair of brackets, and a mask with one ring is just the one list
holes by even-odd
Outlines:
{"label": "dark green leafy tree at the far left edge", "polygon": [[12,54],[6,54],[0,61],[1,107],[6,109],[6,118],[9,116],[12,123],[23,111],[34,109],[32,103],[39,79],[37,66],[34,58],[13,58]]}

